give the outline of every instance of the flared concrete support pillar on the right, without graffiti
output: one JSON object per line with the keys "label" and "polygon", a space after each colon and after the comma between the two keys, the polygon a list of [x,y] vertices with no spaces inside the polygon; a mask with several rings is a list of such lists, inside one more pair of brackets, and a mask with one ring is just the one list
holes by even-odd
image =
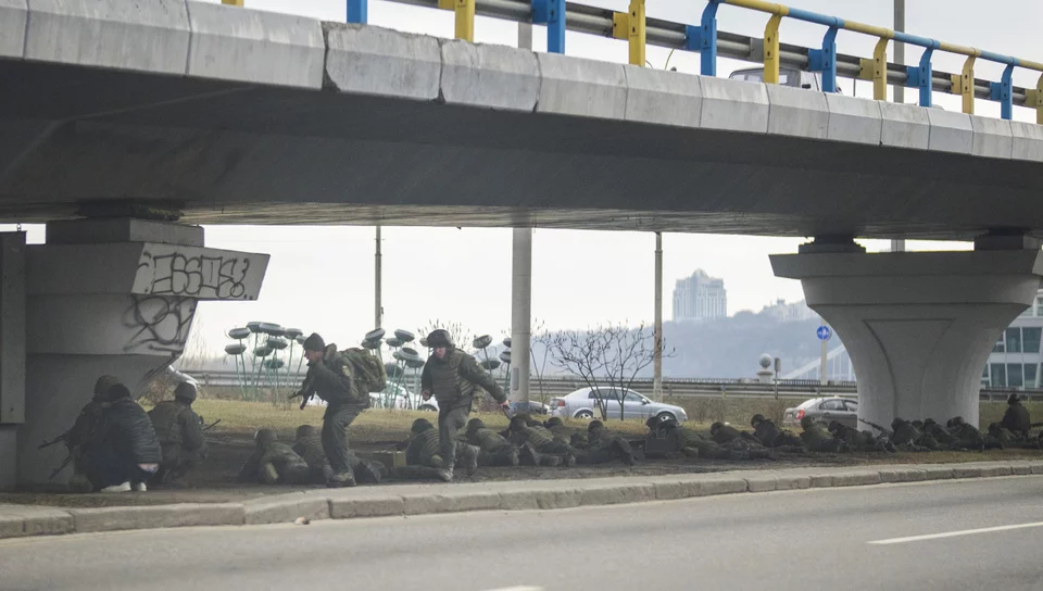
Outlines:
{"label": "flared concrete support pillar on the right, without graffiti", "polygon": [[1043,255],[1031,242],[989,236],[968,252],[867,254],[850,239],[816,239],[771,266],[800,279],[807,305],[843,338],[859,418],[977,424],[989,353],[1040,287]]}

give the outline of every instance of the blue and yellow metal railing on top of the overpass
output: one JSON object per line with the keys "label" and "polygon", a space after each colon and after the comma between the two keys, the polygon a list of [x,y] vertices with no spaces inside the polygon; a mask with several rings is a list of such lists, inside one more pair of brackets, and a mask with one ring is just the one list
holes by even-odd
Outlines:
{"label": "blue and yellow metal railing on top of the overpass", "polygon": [[[426,5],[436,3],[443,10],[452,10],[456,15],[455,36],[457,39],[474,41],[475,14],[479,9],[483,13],[506,18],[531,18],[532,24],[546,26],[546,48],[552,53],[565,53],[565,30],[570,28],[585,33],[602,34],[624,39],[629,43],[630,63],[645,65],[645,47],[650,42],[650,30],[645,18],[645,0],[629,0],[629,10],[625,13],[612,12],[608,26],[602,26],[600,9],[591,9],[580,4],[566,5],[565,0],[482,0],[478,7],[476,0],[395,0],[413,4]],[[243,0],[222,0],[224,4],[243,5]],[[931,60],[935,51],[943,51],[966,56],[963,72],[950,75],[946,80],[948,89],[954,95],[963,97],[963,111],[975,112],[975,98],[985,98],[1000,103],[1001,116],[1010,120],[1014,116],[1015,95],[1019,101],[1036,112],[1036,123],[1043,124],[1043,63],[1021,60],[984,51],[972,47],[964,47],[927,37],[895,32],[885,27],[866,25],[854,21],[845,21],[837,16],[828,16],[784,4],[764,2],[762,0],[709,0],[703,10],[699,25],[681,25],[663,23],[665,26],[657,29],[655,45],[674,47],[701,54],[701,74],[704,76],[717,75],[717,54],[722,46],[717,33],[717,9],[720,4],[729,4],[768,14],[768,22],[764,29],[764,50],[761,56],[764,62],[764,80],[768,84],[779,83],[779,71],[783,63],[783,49],[780,43],[779,29],[784,18],[804,21],[826,27],[821,48],[806,49],[808,71],[820,72],[822,88],[827,92],[837,91],[837,33],[841,29],[876,37],[877,45],[871,59],[858,60],[857,76],[872,80],[872,95],[877,100],[887,100],[889,84],[889,66],[900,68],[893,76],[895,83],[904,84],[919,90],[919,104],[931,106],[932,92],[935,89],[934,71]],[[488,9],[487,9],[488,7]],[[486,10],[487,9],[487,10]],[[365,23],[367,18],[367,0],[347,0],[347,20],[349,23]],[[571,21],[576,21],[575,25]],[[662,23],[662,22],[659,22]],[[891,41],[903,42],[922,48],[918,65],[905,66],[889,64],[887,60],[888,45]],[[755,56],[753,56],[755,59]],[[845,56],[846,58],[846,56]],[[978,92],[979,86],[975,79],[975,64],[984,60],[1004,64],[1003,74],[998,81],[989,81],[984,96]],[[1011,84],[1015,68],[1021,67],[1040,73],[1034,89],[1016,89]]]}

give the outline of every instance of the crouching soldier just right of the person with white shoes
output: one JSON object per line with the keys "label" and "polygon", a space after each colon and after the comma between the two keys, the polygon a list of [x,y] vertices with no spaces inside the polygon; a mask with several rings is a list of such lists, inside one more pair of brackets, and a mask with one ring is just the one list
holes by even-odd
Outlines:
{"label": "crouching soldier just right of the person with white shoes", "polygon": [[185,486],[188,470],[206,460],[206,440],[202,419],[192,411],[196,385],[183,381],[174,389],[174,400],[164,400],[149,411],[155,437],[163,448],[163,462],[153,477],[155,483]]}

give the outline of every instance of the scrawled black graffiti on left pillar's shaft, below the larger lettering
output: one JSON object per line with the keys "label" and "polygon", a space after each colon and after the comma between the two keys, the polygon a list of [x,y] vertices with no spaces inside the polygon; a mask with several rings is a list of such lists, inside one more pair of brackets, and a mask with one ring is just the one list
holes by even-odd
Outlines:
{"label": "scrawled black graffiti on left pillar's shaft, below the larger lettering", "polygon": [[130,338],[124,351],[147,348],[180,354],[196,317],[196,300],[164,296],[131,296],[124,325]]}

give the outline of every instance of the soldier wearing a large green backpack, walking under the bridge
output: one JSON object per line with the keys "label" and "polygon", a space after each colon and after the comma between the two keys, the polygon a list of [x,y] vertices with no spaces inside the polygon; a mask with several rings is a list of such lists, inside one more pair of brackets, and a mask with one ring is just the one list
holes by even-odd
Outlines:
{"label": "soldier wearing a large green backpack, walking under the bridge", "polygon": [[323,449],[332,474],[326,486],[353,487],[355,477],[351,471],[348,426],[369,406],[369,392],[355,391],[351,368],[347,360],[337,353],[336,344],[327,347],[318,334],[312,332],[303,347],[307,376],[301,394],[318,394],[328,404],[323,415]]}

